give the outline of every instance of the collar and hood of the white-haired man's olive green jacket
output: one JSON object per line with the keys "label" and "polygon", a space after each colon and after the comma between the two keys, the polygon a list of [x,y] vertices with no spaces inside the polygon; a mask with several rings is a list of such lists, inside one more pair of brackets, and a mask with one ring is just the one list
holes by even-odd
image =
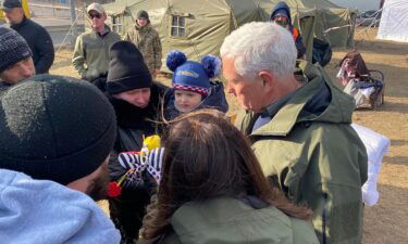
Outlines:
{"label": "collar and hood of the white-haired man's olive green jacket", "polygon": [[[297,66],[309,82],[296,90],[272,117],[272,120],[254,131],[252,136],[287,136],[295,124],[300,121],[351,123],[355,108],[353,98],[334,86],[322,67],[311,65],[306,61],[300,61]],[[322,89],[329,89],[330,101],[319,98]],[[313,107],[313,102],[314,104],[317,102],[320,107]],[[327,104],[324,108],[323,103]],[[318,111],[313,111],[317,108]],[[256,118],[254,114],[252,118]]]}

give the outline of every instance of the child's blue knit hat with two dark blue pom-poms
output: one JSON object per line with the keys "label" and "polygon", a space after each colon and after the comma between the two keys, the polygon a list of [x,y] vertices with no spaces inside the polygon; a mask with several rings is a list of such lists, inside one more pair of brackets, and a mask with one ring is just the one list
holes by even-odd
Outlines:
{"label": "child's blue knit hat with two dark blue pom-poms", "polygon": [[213,55],[205,55],[200,63],[187,61],[183,52],[170,52],[166,65],[174,72],[174,89],[186,90],[207,97],[210,92],[210,79],[220,74],[221,61]]}

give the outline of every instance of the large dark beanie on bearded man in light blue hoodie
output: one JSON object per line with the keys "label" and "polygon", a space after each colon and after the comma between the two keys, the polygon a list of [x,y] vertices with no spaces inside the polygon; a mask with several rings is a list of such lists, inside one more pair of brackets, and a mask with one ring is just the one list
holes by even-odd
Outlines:
{"label": "large dark beanie on bearded man in light blue hoodie", "polygon": [[113,107],[89,82],[37,75],[0,101],[0,168],[67,184],[94,172],[113,147]]}

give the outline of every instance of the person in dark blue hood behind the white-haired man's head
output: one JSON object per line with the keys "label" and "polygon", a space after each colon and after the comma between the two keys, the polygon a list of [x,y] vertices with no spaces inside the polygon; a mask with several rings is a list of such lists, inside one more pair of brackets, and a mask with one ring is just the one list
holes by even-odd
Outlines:
{"label": "person in dark blue hood behind the white-haired man's head", "polygon": [[292,24],[290,9],[286,4],[286,2],[279,2],[273,8],[271,13],[271,22],[281,25],[282,27],[290,31],[297,49],[297,59],[302,57],[306,53],[306,47],[304,44],[299,29]]}

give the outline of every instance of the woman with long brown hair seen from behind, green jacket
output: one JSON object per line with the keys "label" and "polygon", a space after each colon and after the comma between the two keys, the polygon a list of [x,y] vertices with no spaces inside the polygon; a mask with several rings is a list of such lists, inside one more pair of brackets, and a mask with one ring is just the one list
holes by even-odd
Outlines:
{"label": "woman with long brown hair seen from behind, green jacket", "polygon": [[311,215],[271,187],[224,114],[200,110],[171,126],[139,243],[318,244]]}

